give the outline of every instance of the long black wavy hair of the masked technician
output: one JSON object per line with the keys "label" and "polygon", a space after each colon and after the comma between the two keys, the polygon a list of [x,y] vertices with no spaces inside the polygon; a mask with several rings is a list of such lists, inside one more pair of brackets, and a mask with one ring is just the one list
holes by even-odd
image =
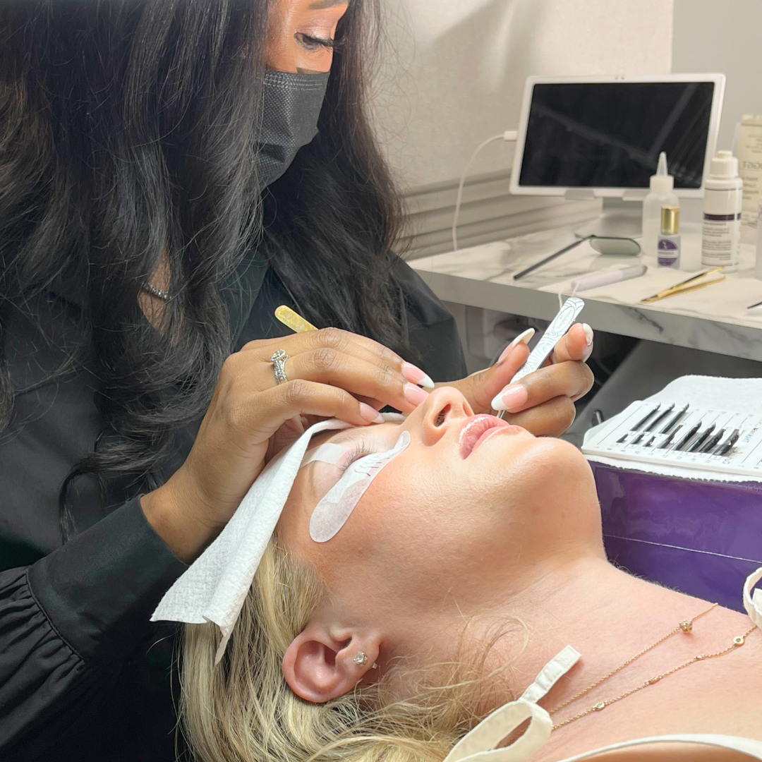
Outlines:
{"label": "long black wavy hair of the masked technician", "polygon": [[[252,249],[312,322],[405,352],[389,272],[401,207],[366,115],[379,0],[351,0],[319,136],[263,194],[267,5],[0,0],[0,431],[8,315],[63,279],[84,284],[107,434],[62,488],[65,538],[79,475],[158,485],[173,431],[203,415],[232,351],[220,291]],[[177,296],[157,331],[138,295],[167,255]]]}

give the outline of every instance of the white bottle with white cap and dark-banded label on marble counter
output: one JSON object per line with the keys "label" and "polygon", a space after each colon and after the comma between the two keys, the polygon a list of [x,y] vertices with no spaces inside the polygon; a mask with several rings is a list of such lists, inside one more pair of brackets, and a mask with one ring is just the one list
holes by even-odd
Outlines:
{"label": "white bottle with white cap and dark-banded label on marble counter", "polygon": [[712,158],[704,183],[704,223],[701,235],[701,264],[738,269],[741,258],[741,208],[744,182],[738,177],[738,159],[730,151]]}

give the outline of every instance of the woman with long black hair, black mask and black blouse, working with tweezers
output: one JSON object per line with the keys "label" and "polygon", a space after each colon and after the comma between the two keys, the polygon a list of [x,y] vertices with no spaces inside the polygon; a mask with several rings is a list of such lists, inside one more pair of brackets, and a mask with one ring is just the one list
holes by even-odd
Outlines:
{"label": "woman with long black hair, black mask and black blouse, working with tweezers", "polygon": [[[453,319],[392,253],[378,14],[0,2],[5,762],[174,760],[177,629],[149,617],[306,424],[409,413],[433,378],[477,412],[507,387],[511,421],[559,434],[591,386],[582,325],[514,386],[520,341],[464,378]],[[331,328],[291,335],[282,304]]]}

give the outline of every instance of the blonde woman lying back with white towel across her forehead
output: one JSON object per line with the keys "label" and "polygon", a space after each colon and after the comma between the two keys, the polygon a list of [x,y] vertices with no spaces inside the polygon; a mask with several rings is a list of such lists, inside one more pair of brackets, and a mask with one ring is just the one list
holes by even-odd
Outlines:
{"label": "blonde woman lying back with white towel across her forehead", "polygon": [[751,620],[620,571],[581,453],[454,389],[336,425],[268,466],[154,615],[203,623],[198,760],[762,759],[762,570]]}

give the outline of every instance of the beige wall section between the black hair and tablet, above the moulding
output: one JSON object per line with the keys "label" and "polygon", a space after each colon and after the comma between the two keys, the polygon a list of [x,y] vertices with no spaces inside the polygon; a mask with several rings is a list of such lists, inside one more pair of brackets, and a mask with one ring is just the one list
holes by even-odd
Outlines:
{"label": "beige wall section between the black hair and tablet, above the moulding", "polygon": [[[407,187],[458,177],[479,142],[514,129],[527,75],[671,68],[672,0],[386,0],[386,6],[396,55],[379,80],[377,121]],[[472,173],[509,168],[512,158],[510,144],[494,143]]]}

